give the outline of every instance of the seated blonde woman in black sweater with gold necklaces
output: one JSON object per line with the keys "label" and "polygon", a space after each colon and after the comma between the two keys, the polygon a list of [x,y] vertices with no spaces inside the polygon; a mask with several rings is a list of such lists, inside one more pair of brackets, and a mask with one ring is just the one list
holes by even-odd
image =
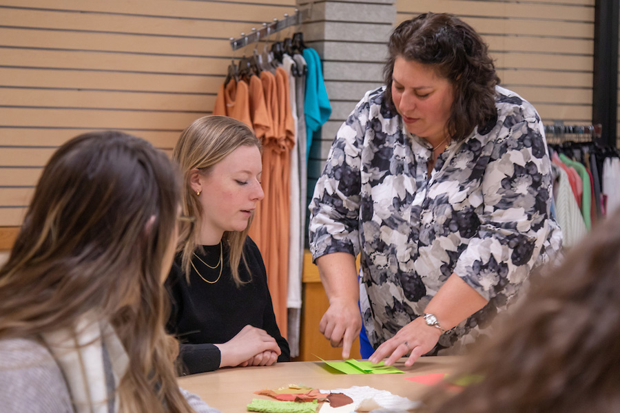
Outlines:
{"label": "seated blonde woman in black sweater with gold necklaces", "polygon": [[289,361],[265,265],[247,236],[264,197],[260,142],[238,120],[206,116],[183,131],[173,158],[185,177],[183,212],[196,220],[180,234],[167,279],[183,372]]}

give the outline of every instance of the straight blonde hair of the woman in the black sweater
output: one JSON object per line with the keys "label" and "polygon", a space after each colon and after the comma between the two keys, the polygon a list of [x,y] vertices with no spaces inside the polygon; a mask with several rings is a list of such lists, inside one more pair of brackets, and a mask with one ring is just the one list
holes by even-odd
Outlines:
{"label": "straight blonde hair of the woman in the black sweater", "polygon": [[[209,173],[209,170],[214,165],[241,146],[255,146],[260,150],[260,141],[245,123],[226,116],[205,116],[194,120],[192,125],[189,125],[183,131],[178,142],[176,142],[172,158],[180,165],[185,179],[185,184],[183,185],[183,213],[196,218],[194,225],[186,226],[180,232],[177,246],[177,251],[182,251],[181,266],[188,277],[192,255],[197,250],[203,252],[201,251],[202,246],[196,243],[196,237],[197,231],[200,229],[201,217],[203,212],[205,212],[196,194],[189,186],[192,170],[199,169],[202,173]],[[227,231],[223,236],[223,241],[230,248],[230,270],[237,286],[241,286],[249,281],[243,281],[240,278],[239,264],[243,262],[245,267],[248,268],[245,254],[243,253],[243,245],[253,219],[254,215],[250,217],[244,231]]]}

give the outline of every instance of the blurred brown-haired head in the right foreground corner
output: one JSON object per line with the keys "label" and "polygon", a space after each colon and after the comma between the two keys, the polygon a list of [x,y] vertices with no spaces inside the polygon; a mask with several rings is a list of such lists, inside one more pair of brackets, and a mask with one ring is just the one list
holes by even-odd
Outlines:
{"label": "blurred brown-haired head in the right foreground corner", "polygon": [[544,271],[451,377],[474,383],[433,390],[424,412],[620,412],[620,213]]}

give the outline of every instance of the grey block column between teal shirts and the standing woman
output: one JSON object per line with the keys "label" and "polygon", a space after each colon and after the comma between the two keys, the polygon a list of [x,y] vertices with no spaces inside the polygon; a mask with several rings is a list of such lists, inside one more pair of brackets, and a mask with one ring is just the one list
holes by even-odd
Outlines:
{"label": "grey block column between teal shirts and the standing woman", "polygon": [[297,3],[310,8],[309,19],[302,25],[304,43],[321,57],[332,108],[320,140],[313,141],[309,153],[309,202],[338,128],[366,91],[383,84],[386,43],[396,20],[396,5],[394,0]]}

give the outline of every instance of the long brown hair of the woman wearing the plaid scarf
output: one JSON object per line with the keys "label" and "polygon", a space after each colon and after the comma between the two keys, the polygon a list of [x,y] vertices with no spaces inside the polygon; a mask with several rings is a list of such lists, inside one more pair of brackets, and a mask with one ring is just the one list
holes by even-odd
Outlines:
{"label": "long brown hair of the woman wearing the plaid scarf", "polygon": [[165,332],[162,277],[180,177],[145,140],[83,134],[45,166],[8,262],[0,268],[0,339],[110,321],[129,356],[121,411],[191,412]]}

